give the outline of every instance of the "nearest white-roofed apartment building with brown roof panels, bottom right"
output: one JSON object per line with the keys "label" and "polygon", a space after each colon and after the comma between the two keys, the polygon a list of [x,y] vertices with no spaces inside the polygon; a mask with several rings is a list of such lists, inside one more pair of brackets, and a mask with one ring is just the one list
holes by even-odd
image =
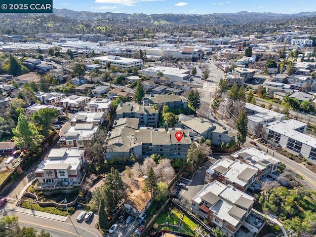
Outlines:
{"label": "nearest white-roofed apartment building with brown roof panels, bottom right", "polygon": [[191,200],[192,211],[228,237],[235,236],[241,226],[252,233],[263,228],[265,221],[262,218],[257,219],[260,224],[251,221],[253,204],[253,197],[218,181],[205,185]]}

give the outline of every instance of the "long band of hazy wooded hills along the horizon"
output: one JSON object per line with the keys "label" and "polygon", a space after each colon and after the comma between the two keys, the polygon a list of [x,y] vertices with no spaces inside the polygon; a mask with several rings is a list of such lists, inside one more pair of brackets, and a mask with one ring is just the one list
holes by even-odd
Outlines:
{"label": "long band of hazy wooded hills along the horizon", "polygon": [[219,24],[233,24],[233,23],[254,23],[254,22],[269,22],[269,21],[283,21],[287,19],[296,19],[301,17],[316,16],[316,12],[301,12],[297,14],[276,14],[276,13],[258,13],[241,11],[237,13],[221,13],[221,14],[126,14],[126,13],[112,13],[112,12],[89,12],[89,11],[73,11],[69,9],[53,9],[53,13],[58,16],[65,16],[75,20],[136,20],[139,22],[151,22],[152,24],[202,24],[211,25]]}

